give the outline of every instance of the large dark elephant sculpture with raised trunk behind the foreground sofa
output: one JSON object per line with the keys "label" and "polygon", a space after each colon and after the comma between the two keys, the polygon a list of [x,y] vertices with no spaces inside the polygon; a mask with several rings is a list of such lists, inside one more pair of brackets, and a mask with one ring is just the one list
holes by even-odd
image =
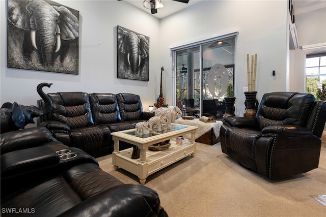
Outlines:
{"label": "large dark elephant sculpture with raised trunk behind the foreground sofa", "polygon": [[1,133],[24,129],[28,123],[35,123],[34,117],[47,114],[52,109],[51,99],[43,92],[43,86],[50,87],[51,83],[40,83],[37,92],[44,100],[44,108],[36,106],[18,105],[18,103],[4,103],[1,107]]}

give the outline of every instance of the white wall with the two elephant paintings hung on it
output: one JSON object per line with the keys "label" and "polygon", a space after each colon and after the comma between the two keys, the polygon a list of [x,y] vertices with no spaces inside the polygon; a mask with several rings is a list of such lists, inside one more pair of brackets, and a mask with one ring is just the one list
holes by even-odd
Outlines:
{"label": "white wall with the two elephant paintings hung on it", "polygon": [[[53,85],[44,87],[45,92],[131,92],[141,96],[143,107],[148,110],[158,95],[155,89],[156,77],[160,75],[159,19],[124,1],[55,2],[79,11],[79,74],[7,68],[7,1],[0,0],[1,105],[14,101],[36,105],[40,99],[36,86],[50,82]],[[150,38],[149,82],[117,78],[117,25]]]}

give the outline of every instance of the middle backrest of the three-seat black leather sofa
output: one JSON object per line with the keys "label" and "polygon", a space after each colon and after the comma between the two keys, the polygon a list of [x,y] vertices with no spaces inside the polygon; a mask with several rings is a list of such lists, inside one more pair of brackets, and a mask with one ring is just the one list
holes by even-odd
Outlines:
{"label": "middle backrest of the three-seat black leather sofa", "polygon": [[95,125],[121,121],[115,94],[93,93],[89,97]]}

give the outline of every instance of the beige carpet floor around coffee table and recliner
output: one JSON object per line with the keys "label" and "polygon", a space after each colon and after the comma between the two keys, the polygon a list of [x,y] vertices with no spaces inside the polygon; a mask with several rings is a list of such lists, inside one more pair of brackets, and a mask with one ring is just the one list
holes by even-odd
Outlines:
{"label": "beige carpet floor around coffee table and recliner", "polygon": [[[139,183],[137,176],[114,170],[112,154],[97,160],[124,183]],[[301,175],[269,180],[231,160],[220,143],[197,143],[193,158],[150,175],[145,185],[159,194],[170,217],[326,216],[326,206],[315,199],[326,195],[326,132],[319,168]]]}

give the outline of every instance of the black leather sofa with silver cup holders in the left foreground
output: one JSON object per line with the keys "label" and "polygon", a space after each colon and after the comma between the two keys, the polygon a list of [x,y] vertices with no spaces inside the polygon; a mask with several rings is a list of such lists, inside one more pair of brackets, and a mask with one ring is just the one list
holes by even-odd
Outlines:
{"label": "black leather sofa with silver cup holders in the left foreground", "polygon": [[154,190],[122,183],[44,127],[3,133],[0,148],[1,216],[168,216]]}

